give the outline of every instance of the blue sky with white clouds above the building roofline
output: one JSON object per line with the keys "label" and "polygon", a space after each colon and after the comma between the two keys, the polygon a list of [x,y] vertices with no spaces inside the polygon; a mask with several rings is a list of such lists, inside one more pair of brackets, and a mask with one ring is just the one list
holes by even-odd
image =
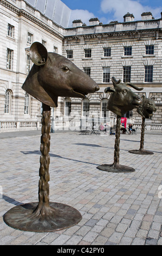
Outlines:
{"label": "blue sky with white clouds above the building roofline", "polygon": [[73,20],[81,19],[89,25],[89,19],[98,17],[100,22],[107,24],[110,21],[123,22],[126,13],[134,15],[134,20],[141,20],[141,14],[151,11],[155,19],[161,17],[161,0],[61,0],[71,10],[69,26]]}

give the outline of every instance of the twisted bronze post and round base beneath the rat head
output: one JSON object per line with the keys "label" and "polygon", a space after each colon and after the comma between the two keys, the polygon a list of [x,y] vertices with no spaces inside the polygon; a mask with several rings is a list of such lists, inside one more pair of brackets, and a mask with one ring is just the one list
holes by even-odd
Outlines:
{"label": "twisted bronze post and round base beneath the rat head", "polygon": [[12,228],[53,232],[72,227],[82,220],[80,212],[71,206],[49,202],[49,148],[50,148],[51,108],[43,104],[42,136],[40,145],[39,202],[15,206],[3,216],[3,220]]}

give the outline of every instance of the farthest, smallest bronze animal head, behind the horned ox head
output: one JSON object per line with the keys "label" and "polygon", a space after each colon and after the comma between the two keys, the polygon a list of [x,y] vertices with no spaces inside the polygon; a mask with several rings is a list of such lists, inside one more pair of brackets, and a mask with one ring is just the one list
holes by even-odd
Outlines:
{"label": "farthest, smallest bronze animal head, behind the horned ox head", "polygon": [[146,98],[144,95],[142,96],[142,103],[136,109],[142,117],[144,118],[151,118],[153,113],[157,111],[157,108],[154,103],[154,97],[151,99]]}

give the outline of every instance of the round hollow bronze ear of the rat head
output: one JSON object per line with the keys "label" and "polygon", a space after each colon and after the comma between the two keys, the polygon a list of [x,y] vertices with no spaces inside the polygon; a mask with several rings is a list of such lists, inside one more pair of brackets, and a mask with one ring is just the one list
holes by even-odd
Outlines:
{"label": "round hollow bronze ear of the rat head", "polygon": [[30,59],[35,65],[44,65],[48,59],[48,52],[40,42],[33,42],[29,51]]}

